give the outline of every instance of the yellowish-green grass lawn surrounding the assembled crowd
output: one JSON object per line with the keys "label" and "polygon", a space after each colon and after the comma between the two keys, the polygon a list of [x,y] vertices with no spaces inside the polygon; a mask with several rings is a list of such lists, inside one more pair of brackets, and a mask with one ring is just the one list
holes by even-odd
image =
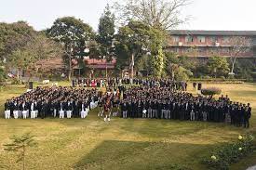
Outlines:
{"label": "yellowish-green grass lawn surrounding the assembled crowd", "polygon": [[[62,84],[61,84],[62,85]],[[64,85],[64,84],[63,84]],[[220,86],[233,100],[250,102],[256,108],[256,84]],[[191,87],[191,85],[190,85]],[[0,92],[0,111],[7,98],[19,96],[25,88],[9,85]],[[105,123],[97,109],[86,119],[0,119],[0,169],[21,169],[16,155],[3,150],[9,137],[32,132],[39,143],[28,150],[27,169],[195,169],[209,151],[238,135],[256,135],[256,110],[251,128],[227,124],[169,120],[113,118]],[[3,117],[3,116],[2,116]],[[256,164],[256,152],[231,169],[243,170]]]}

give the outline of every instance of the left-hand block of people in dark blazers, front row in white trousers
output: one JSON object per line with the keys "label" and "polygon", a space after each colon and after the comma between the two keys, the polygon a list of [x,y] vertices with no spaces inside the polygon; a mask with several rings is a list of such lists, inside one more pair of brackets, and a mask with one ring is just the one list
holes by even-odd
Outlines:
{"label": "left-hand block of people in dark blazers, front row in white trousers", "polygon": [[90,109],[97,107],[101,94],[102,92],[96,89],[37,87],[18,98],[8,99],[5,104],[6,118],[85,118]]}

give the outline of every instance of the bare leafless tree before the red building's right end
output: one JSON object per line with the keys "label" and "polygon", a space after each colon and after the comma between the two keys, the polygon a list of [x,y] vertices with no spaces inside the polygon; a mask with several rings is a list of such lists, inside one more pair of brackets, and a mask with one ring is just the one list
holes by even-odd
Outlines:
{"label": "bare leafless tree before the red building's right end", "polygon": [[234,75],[236,59],[239,55],[249,52],[251,49],[251,39],[245,36],[233,36],[229,39],[229,52],[231,60],[231,75]]}

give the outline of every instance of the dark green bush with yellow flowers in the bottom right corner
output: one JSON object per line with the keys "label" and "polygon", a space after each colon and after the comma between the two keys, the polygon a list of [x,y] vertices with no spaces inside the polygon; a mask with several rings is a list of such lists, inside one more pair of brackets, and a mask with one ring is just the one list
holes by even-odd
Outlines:
{"label": "dark green bush with yellow flowers in the bottom right corner", "polygon": [[226,144],[221,148],[212,151],[211,156],[204,160],[210,169],[228,170],[231,163],[237,163],[255,150],[253,137],[247,135],[239,136],[238,140],[231,144]]}

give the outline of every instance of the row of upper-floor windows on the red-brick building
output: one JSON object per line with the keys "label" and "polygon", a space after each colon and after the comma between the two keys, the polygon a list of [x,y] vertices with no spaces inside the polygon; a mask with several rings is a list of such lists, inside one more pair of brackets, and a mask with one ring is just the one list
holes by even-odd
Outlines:
{"label": "row of upper-floor windows on the red-brick building", "polygon": [[[180,36],[175,35],[175,36],[172,36],[172,37],[173,37],[174,42],[177,42],[177,43],[180,42]],[[197,41],[200,42],[200,43],[205,43],[206,42],[206,37],[205,36],[198,35],[198,36],[196,36],[196,38],[197,38]],[[211,42],[215,43],[215,42],[217,42],[218,37],[210,36],[209,39],[210,39]],[[194,41],[195,41],[195,36],[187,35],[185,37],[185,42],[186,43],[192,43]],[[224,36],[223,41],[225,43],[228,43],[229,42],[229,37]]]}

